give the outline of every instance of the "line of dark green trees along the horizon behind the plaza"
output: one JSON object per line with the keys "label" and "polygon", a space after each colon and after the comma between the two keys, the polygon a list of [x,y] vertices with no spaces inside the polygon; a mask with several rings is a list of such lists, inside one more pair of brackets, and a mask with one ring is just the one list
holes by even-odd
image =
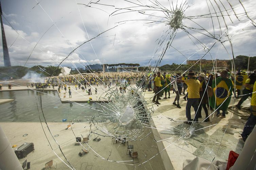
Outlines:
{"label": "line of dark green trees along the horizon behind the plaza", "polygon": [[[248,58],[249,56],[245,55],[238,55],[235,57],[234,60],[231,60],[228,65],[228,69],[231,70],[232,65],[235,62],[236,70],[247,70],[248,67]],[[119,64],[106,64],[109,67],[114,66],[121,66],[121,67],[139,67],[139,64],[126,64],[126,63],[119,63]],[[87,66],[88,67],[88,66]],[[102,65],[103,67],[103,65]],[[90,65],[91,72],[93,71],[102,71],[102,67],[100,65]],[[192,68],[190,68],[191,65],[181,65],[181,64],[175,64],[172,63],[171,65],[166,64],[161,67],[159,67],[162,71],[186,71],[186,70],[194,70],[194,71],[200,71],[200,64],[194,65]],[[211,71],[213,69],[213,65],[202,65],[202,70]],[[89,67],[88,67],[89,69]],[[88,69],[85,68],[78,68],[80,73],[88,73]],[[224,68],[222,68],[224,69]],[[225,68],[226,69],[226,68]],[[249,70],[253,71],[256,69],[256,56],[250,57],[250,63],[249,63]],[[106,69],[105,69],[106,70]],[[148,67],[139,67],[139,71],[148,70]],[[33,66],[31,68],[28,67],[22,67],[22,66],[12,66],[12,67],[0,67],[0,79],[9,79],[10,77],[13,77],[14,79],[19,79],[25,76],[29,71],[34,71],[38,74],[41,74],[42,76],[49,76],[49,74],[53,74],[54,76],[57,76],[61,73],[61,69],[55,66]],[[49,74],[48,74],[49,73]],[[71,70],[71,74],[78,74],[78,71],[75,69]]]}

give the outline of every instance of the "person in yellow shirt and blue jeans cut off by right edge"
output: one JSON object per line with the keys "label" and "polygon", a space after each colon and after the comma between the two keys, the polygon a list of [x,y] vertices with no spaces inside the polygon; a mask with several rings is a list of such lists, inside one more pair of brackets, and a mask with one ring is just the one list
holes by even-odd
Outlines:
{"label": "person in yellow shirt and blue jeans cut off by right edge", "polygon": [[256,81],[254,82],[253,94],[251,99],[251,115],[249,116],[247,122],[245,123],[243,132],[241,133],[243,141],[245,141],[248,138],[255,124],[256,124]]}

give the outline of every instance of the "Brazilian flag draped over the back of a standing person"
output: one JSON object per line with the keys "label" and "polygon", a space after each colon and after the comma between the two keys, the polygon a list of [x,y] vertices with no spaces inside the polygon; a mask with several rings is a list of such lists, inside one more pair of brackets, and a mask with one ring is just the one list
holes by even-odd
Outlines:
{"label": "Brazilian flag draped over the back of a standing person", "polygon": [[209,99],[211,107],[218,108],[220,106],[220,110],[227,110],[228,104],[231,100],[230,96],[233,91],[232,80],[230,78],[218,77],[216,79],[216,83],[215,79],[213,80],[212,88],[214,95]]}

